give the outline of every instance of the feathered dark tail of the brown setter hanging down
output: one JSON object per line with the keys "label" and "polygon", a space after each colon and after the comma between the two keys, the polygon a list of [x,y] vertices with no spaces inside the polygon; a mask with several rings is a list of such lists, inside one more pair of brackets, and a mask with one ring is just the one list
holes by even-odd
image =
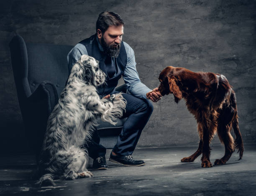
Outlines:
{"label": "feathered dark tail of the brown setter hanging down", "polygon": [[238,160],[240,160],[243,156],[243,140],[242,140],[242,135],[238,126],[238,115],[237,115],[237,107],[236,107],[236,95],[234,92],[232,92],[231,94],[231,104],[232,107],[235,110],[235,114],[234,114],[234,120],[233,120],[233,130],[234,133],[236,135],[236,140],[235,140],[235,148],[238,149],[239,156],[240,158]]}

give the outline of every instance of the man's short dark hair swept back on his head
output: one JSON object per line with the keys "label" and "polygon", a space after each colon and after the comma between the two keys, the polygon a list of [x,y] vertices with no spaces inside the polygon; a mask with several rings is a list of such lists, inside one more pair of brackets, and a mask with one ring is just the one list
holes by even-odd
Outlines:
{"label": "man's short dark hair swept back on his head", "polygon": [[125,22],[119,14],[105,11],[100,13],[99,15],[99,18],[96,23],[96,33],[97,33],[97,29],[100,29],[100,31],[103,34],[105,33],[105,31],[107,31],[110,25],[119,26],[124,24]]}

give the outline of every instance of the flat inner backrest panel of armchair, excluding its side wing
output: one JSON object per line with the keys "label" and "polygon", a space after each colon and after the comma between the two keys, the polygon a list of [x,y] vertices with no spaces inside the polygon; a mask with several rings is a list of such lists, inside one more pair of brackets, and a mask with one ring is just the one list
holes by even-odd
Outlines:
{"label": "flat inner backrest panel of armchair, excluding its side wing", "polygon": [[67,54],[73,46],[28,43],[28,83],[33,92],[42,81],[51,81],[58,93],[68,78]]}

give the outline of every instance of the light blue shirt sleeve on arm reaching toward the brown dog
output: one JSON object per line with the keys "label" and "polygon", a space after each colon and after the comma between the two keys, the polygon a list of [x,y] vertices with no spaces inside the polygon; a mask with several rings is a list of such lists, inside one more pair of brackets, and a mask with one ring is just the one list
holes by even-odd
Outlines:
{"label": "light blue shirt sleeve on arm reaching toward the brown dog", "polygon": [[133,49],[127,43],[123,43],[127,53],[127,64],[123,73],[123,80],[125,81],[127,89],[131,94],[133,94],[135,97],[146,99],[146,93],[151,91],[151,89],[149,89],[139,79]]}

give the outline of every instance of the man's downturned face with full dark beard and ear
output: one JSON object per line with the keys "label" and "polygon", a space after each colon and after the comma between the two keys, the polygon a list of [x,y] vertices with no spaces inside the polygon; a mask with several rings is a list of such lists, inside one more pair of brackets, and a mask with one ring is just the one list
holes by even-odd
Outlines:
{"label": "man's downturned face with full dark beard and ear", "polygon": [[98,29],[97,36],[104,52],[108,56],[118,57],[123,37],[123,25],[109,26],[103,35],[100,29]]}

